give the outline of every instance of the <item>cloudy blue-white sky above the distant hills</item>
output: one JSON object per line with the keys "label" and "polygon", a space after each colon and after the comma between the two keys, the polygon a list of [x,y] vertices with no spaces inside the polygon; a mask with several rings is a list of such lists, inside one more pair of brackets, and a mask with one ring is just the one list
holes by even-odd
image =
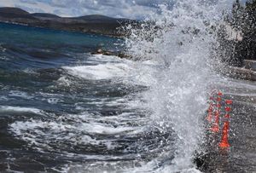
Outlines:
{"label": "cloudy blue-white sky above the distant hills", "polygon": [[116,18],[143,19],[154,13],[159,4],[166,3],[171,7],[174,1],[176,0],[0,0],[0,7],[17,7],[30,13],[50,13],[62,17],[103,14]]}

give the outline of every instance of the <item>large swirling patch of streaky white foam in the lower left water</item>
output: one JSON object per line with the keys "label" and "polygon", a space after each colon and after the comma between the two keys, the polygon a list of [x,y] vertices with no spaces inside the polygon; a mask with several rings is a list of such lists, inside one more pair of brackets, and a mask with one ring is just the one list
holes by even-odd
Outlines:
{"label": "large swirling patch of streaky white foam in the lower left water", "polygon": [[[22,110],[26,111],[26,109]],[[62,148],[65,151],[66,143],[73,143],[74,146],[90,144],[114,149],[117,145],[114,136],[134,136],[142,132],[140,126],[134,127],[128,124],[133,121],[128,117],[129,113],[102,118],[101,115],[82,112],[64,114],[49,121],[39,119],[16,121],[10,124],[9,128],[16,137],[40,152],[53,151],[55,148]],[[113,139],[96,139],[94,136],[97,135],[113,136]],[[73,153],[67,153],[67,156],[72,157]],[[88,157],[87,154],[81,156]]]}

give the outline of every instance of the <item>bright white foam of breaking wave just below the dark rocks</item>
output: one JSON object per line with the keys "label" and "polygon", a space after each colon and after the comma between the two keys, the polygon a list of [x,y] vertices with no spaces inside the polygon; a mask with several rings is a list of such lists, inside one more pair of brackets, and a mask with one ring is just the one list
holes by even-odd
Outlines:
{"label": "bright white foam of breaking wave just below the dark rocks", "polygon": [[[157,66],[155,61],[136,62],[107,55],[93,55],[89,61],[93,62],[93,65],[64,66],[63,69],[73,76],[90,80],[111,79],[146,86],[154,82],[151,74],[154,72],[153,66]],[[63,81],[62,78],[59,80]]]}

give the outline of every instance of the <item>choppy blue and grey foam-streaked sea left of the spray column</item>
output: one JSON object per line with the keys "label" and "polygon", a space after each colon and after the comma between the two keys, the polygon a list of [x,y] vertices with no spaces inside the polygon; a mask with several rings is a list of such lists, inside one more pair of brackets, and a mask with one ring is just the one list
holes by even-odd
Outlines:
{"label": "choppy blue and grey foam-streaked sea left of the spray column", "polygon": [[145,87],[119,80],[130,61],[91,55],[119,52],[123,42],[0,23],[1,172],[66,172],[135,158],[143,136],[125,133],[142,125],[143,111],[126,103]]}

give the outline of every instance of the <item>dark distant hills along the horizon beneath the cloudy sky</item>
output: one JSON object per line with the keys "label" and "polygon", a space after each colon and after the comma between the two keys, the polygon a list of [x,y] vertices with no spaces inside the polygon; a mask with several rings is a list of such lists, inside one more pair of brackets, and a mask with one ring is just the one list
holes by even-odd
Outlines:
{"label": "dark distant hills along the horizon beneath the cloudy sky", "polygon": [[104,35],[121,36],[119,27],[136,20],[115,19],[104,15],[92,14],[80,17],[61,17],[55,14],[30,14],[18,8],[0,8],[0,22],[20,23],[27,26],[47,27],[73,32],[90,32]]}

